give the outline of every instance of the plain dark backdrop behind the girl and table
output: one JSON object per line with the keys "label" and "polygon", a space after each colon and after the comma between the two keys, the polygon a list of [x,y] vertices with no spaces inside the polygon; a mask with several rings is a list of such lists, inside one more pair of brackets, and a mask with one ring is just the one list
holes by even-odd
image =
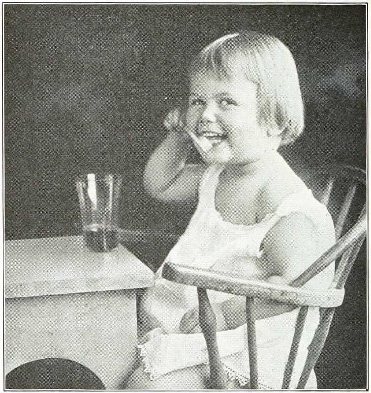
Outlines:
{"label": "plain dark backdrop behind the girl and table", "polygon": [[[79,234],[74,176],[106,170],[124,174],[124,228],[181,233],[194,206],[147,197],[143,168],[186,95],[189,56],[241,28],[276,35],[296,60],[306,129],[281,151],[294,169],[365,168],[364,5],[6,4],[5,240]],[[319,388],[366,387],[365,249],[316,373]]]}

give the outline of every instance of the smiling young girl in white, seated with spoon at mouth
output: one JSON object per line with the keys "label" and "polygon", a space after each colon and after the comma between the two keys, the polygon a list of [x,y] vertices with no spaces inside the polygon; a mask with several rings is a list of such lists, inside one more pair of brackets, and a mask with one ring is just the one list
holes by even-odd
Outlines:
{"label": "smiling young girl in white, seated with spoon at mouth", "polygon": [[[334,225],[278,154],[303,131],[294,59],[275,37],[245,31],[207,46],[190,67],[189,103],[171,111],[169,131],[151,156],[144,184],[154,197],[197,209],[166,261],[289,283],[335,241]],[[203,163],[186,165],[192,143]],[[198,196],[197,196],[198,193]],[[209,366],[197,321],[196,288],[161,278],[141,301],[152,329],[142,339],[143,365],[126,389],[207,389]],[[334,266],[307,283],[328,288]],[[208,291],[230,388],[248,384],[246,299]],[[261,388],[280,389],[298,308],[256,300]],[[295,388],[318,324],[310,309],[290,388]],[[316,388],[312,372],[307,388]]]}

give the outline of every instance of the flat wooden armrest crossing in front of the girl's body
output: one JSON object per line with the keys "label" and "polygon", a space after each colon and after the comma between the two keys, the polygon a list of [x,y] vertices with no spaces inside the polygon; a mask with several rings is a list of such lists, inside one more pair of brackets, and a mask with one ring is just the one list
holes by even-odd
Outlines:
{"label": "flat wooden armrest crossing in front of the girl's body", "polygon": [[344,298],[344,290],[340,289],[313,291],[174,263],[164,264],[162,277],[186,285],[296,306],[338,307]]}

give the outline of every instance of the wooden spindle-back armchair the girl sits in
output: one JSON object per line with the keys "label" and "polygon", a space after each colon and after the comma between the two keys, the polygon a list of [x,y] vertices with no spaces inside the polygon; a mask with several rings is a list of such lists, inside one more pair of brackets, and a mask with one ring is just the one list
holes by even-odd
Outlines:
{"label": "wooden spindle-back armchair the girl sits in", "polygon": [[[322,188],[322,192],[317,194],[317,197],[328,206],[330,213],[332,212],[337,216],[334,220],[336,222],[337,242],[289,285],[278,286],[265,281],[244,280],[215,271],[189,268],[172,263],[164,265],[162,276],[165,279],[197,286],[199,323],[209,352],[210,379],[212,382],[211,388],[213,389],[226,389],[227,378],[216,345],[216,319],[206,289],[246,296],[250,389],[258,389],[257,347],[253,313],[254,298],[271,299],[300,306],[295,333],[283,375],[282,389],[288,389],[291,381],[308,307],[319,307],[319,325],[309,345],[308,357],[297,389],[304,389],[307,384],[309,374],[317,362],[325,343],[335,309],[342,302],[337,289],[344,287],[354,260],[365,240],[367,228],[366,204],[364,204],[356,223],[350,224],[352,225],[351,228],[345,234],[342,234],[345,228],[349,226],[351,217],[354,216],[354,212],[351,212],[351,207],[356,207],[358,204],[352,203],[358,187],[361,188],[361,195],[357,196],[357,198],[361,197],[363,201],[365,200],[365,192],[362,190],[362,187],[366,184],[366,172],[354,167],[333,165],[317,168],[316,177],[313,177],[313,180],[318,179],[318,175],[321,179],[326,178],[326,185]],[[343,192],[345,197],[342,203],[336,201],[337,196],[341,194],[341,192],[338,193],[337,189],[339,184],[342,190],[343,185],[347,184],[346,192]],[[334,205],[331,205],[334,199],[335,205],[339,207],[338,214],[334,213]],[[334,260],[337,261],[336,272],[329,291],[310,293],[300,288]]]}

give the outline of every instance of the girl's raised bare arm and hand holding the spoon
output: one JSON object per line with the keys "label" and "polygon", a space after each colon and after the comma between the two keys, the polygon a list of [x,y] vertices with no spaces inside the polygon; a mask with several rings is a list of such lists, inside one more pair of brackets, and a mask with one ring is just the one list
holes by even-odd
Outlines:
{"label": "girl's raised bare arm and hand holding the spoon", "polygon": [[144,170],[144,187],[157,199],[194,199],[206,168],[204,163],[186,165],[192,142],[182,131],[181,112],[169,112],[164,121],[169,134],[155,149]]}

